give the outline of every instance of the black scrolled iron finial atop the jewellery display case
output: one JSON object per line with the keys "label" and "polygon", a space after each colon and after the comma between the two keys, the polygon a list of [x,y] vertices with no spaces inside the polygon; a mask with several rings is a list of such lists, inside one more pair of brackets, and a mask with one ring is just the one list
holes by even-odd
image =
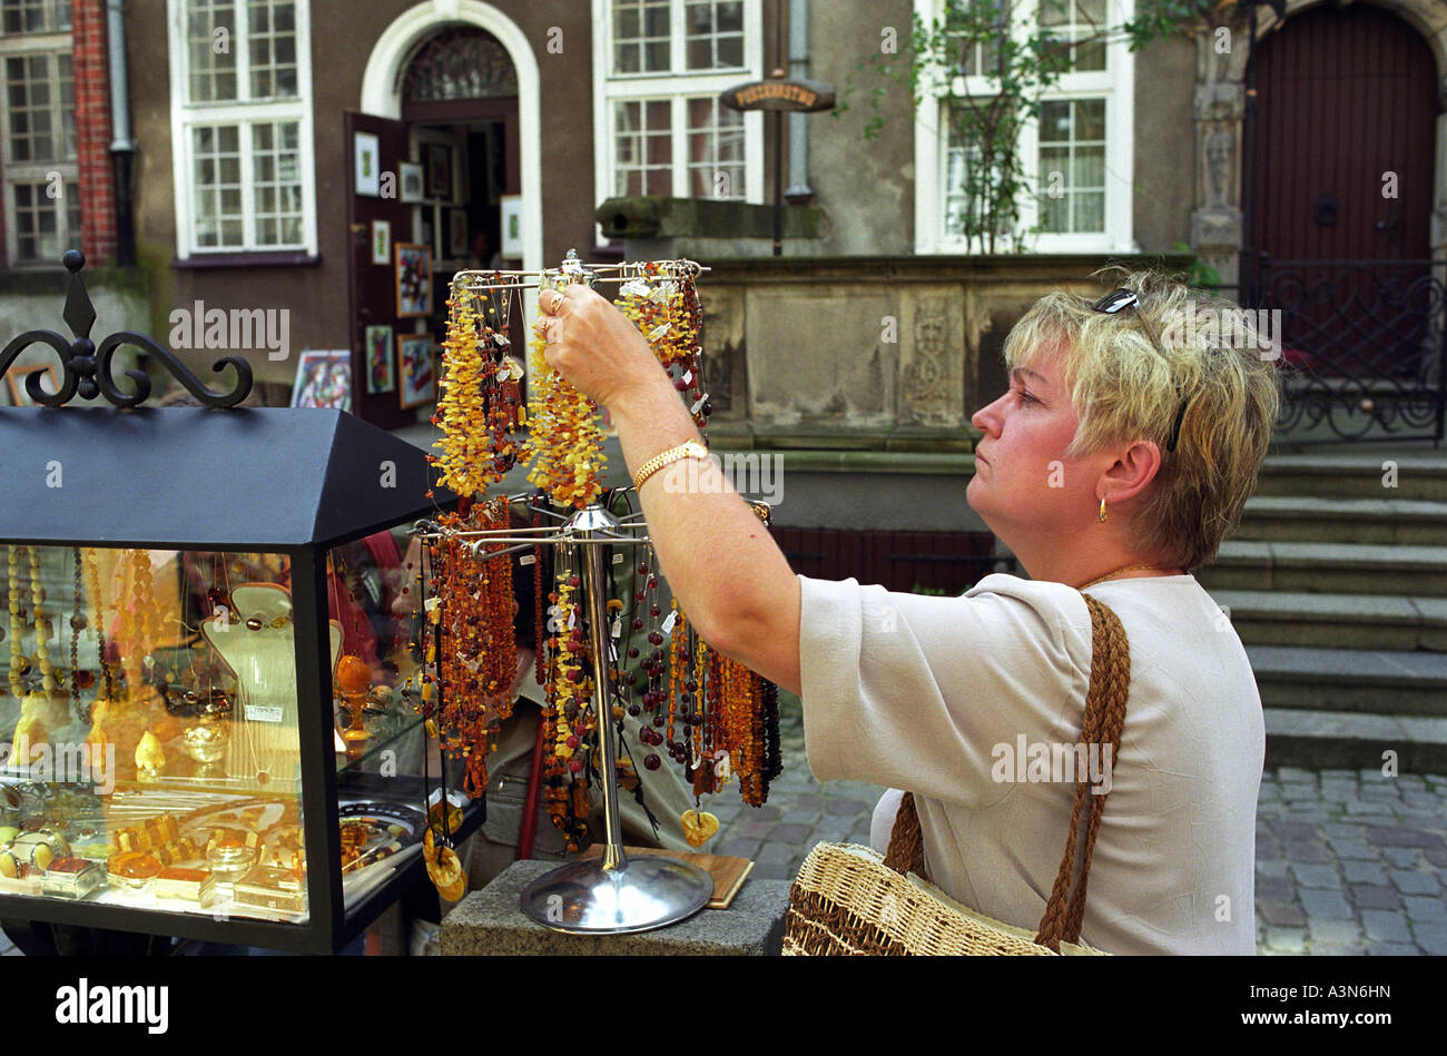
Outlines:
{"label": "black scrolled iron finial atop the jewellery display case", "polygon": [[85,266],[85,255],[78,249],[69,249],[61,257],[65,271],[71,273],[69,286],[65,292],[65,311],[61,318],[71,328],[75,340],[67,341],[54,330],[27,330],[12,338],[0,352],[0,375],[10,369],[10,365],[22,352],[32,344],[48,344],[61,357],[61,388],[52,395],[41,388],[41,372],[32,372],[25,379],[25,391],[32,401],[42,406],[65,406],[77,395],[81,399],[94,399],[104,393],[114,406],[133,408],[146,402],[150,396],[150,378],[145,370],[127,370],[126,378],[132,380],[135,392],[122,392],[116,385],[111,372],[111,359],[123,344],[133,344],[165,365],[166,370],[181,382],[205,406],[221,408],[236,406],[252,391],[252,365],[240,356],[223,356],[211,365],[216,373],[227,366],[236,370],[236,386],[230,392],[211,392],[201,380],[178,360],[169,349],[161,346],[146,334],[130,330],[117,330],[100,343],[100,347],[90,337],[96,324],[96,307],[91,304],[85,282],[81,279],[81,269]]}

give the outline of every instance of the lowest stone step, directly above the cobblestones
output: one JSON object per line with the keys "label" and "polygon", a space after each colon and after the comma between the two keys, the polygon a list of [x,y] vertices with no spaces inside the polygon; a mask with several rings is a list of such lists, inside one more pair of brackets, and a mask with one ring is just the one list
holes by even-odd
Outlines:
{"label": "lowest stone step, directly above the cobblestones", "polygon": [[[1266,707],[1266,765],[1447,774],[1447,719]],[[1391,752],[1392,755],[1388,755]]]}

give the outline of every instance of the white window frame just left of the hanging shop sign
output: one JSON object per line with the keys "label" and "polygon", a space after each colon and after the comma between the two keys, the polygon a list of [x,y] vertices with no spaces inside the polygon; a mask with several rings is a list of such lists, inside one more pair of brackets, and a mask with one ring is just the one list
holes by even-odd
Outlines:
{"label": "white window frame just left of the hanging shop sign", "polygon": [[[614,197],[614,103],[667,100],[671,106],[673,195],[693,197],[689,190],[687,100],[719,93],[744,81],[764,77],[764,22],[761,0],[744,0],[744,65],[729,69],[689,71],[684,43],[684,0],[671,0],[669,14],[670,69],[664,72],[614,74],[614,20],[611,0],[593,4],[593,190],[601,204]],[[731,198],[738,201],[737,198]],[[744,114],[744,197],[764,204],[764,114]],[[606,244],[602,230],[595,231]]]}

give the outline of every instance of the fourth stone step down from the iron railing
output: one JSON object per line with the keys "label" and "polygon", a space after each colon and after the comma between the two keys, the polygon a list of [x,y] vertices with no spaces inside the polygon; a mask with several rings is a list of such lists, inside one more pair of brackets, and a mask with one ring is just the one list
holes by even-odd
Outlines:
{"label": "fourth stone step down from the iron railing", "polygon": [[1211,589],[1246,645],[1447,652],[1447,597]]}

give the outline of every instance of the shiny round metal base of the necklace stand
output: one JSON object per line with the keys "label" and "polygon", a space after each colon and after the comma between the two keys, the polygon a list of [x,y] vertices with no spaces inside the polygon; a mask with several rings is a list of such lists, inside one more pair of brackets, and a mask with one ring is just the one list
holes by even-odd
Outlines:
{"label": "shiny round metal base of the necklace stand", "polygon": [[713,881],[673,858],[638,855],[621,869],[569,862],[522,891],[522,911],[554,932],[624,934],[687,920],[708,906]]}

